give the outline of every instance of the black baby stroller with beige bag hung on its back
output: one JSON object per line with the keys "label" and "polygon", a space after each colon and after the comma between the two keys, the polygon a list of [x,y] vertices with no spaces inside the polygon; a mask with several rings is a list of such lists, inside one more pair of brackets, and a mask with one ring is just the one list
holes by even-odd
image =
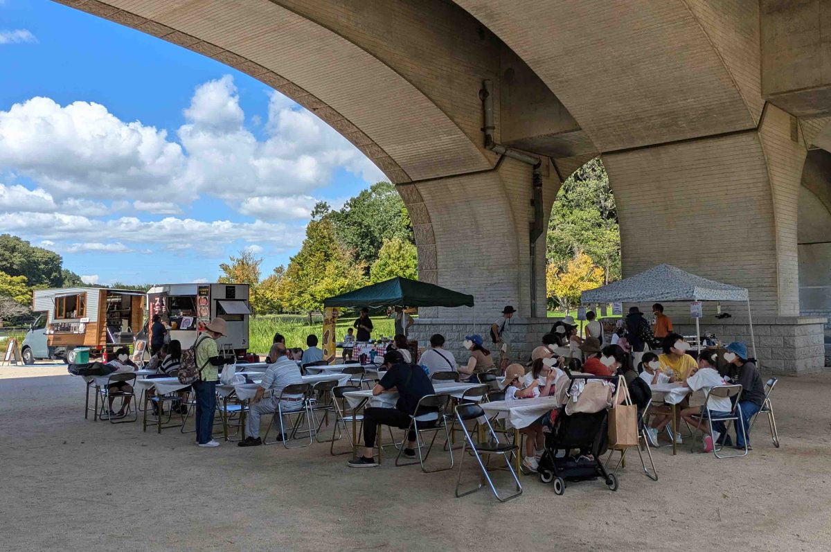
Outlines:
{"label": "black baby stroller with beige bag hung on its back", "polygon": [[[568,377],[568,379],[566,379]],[[591,382],[590,382],[591,380]],[[609,382],[604,385],[602,382]],[[617,476],[608,473],[603,466],[600,456],[607,451],[608,446],[608,407],[614,396],[614,387],[617,377],[599,377],[593,375],[566,374],[557,382],[558,397],[560,398],[557,418],[553,430],[545,436],[545,451],[539,460],[539,481],[554,484],[554,494],[562,495],[566,489],[566,481],[596,481],[602,477],[610,490],[617,490]],[[597,407],[588,407],[596,412],[573,412],[573,392],[580,387],[592,385],[593,395],[597,391],[605,397],[597,403]],[[602,389],[597,386],[603,387]],[[606,404],[602,404],[605,401]],[[585,405],[583,405],[585,409]],[[571,413],[569,413],[571,412]],[[571,449],[580,451],[578,456],[570,456]],[[558,452],[562,454],[558,457]]]}

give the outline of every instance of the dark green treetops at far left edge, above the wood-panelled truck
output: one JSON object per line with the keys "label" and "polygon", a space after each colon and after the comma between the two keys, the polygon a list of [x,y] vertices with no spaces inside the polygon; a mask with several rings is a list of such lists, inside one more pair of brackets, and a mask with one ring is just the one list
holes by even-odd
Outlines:
{"label": "dark green treetops at far left edge, above the wood-panelled truck", "polygon": [[10,276],[25,276],[32,287],[60,288],[63,284],[61,255],[32,247],[25,239],[0,235],[0,271]]}

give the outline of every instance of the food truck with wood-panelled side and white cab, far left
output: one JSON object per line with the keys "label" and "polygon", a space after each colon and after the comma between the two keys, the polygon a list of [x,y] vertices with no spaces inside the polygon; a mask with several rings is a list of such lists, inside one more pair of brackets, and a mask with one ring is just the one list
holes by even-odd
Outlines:
{"label": "food truck with wood-panelled side and white cab, far left", "polygon": [[126,289],[52,288],[32,293],[37,319],[22,344],[23,362],[59,358],[75,362],[74,349],[102,357],[133,344],[144,320],[144,293]]}

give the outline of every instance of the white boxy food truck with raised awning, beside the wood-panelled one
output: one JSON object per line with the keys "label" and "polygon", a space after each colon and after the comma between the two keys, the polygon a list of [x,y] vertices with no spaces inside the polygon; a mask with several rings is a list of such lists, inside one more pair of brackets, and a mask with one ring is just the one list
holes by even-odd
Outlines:
{"label": "white boxy food truck with raised awning, beside the wood-panelled one", "polygon": [[[200,324],[207,324],[212,318],[224,318],[228,335],[217,340],[217,345],[233,349],[237,356],[242,356],[248,351],[248,316],[251,314],[248,291],[247,283],[156,285],[147,291],[145,331],[149,333],[153,317],[159,314],[170,339],[178,339],[184,349],[196,341]],[[150,336],[147,340],[150,341]]]}

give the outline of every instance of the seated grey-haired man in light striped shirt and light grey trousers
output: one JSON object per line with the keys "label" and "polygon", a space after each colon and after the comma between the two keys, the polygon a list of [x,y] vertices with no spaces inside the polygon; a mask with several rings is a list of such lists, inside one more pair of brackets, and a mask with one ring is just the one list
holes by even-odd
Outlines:
{"label": "seated grey-haired man in light striped shirt and light grey trousers", "polygon": [[[259,436],[260,419],[263,414],[277,412],[278,405],[283,412],[296,412],[303,407],[302,395],[287,395],[280,401],[283,388],[293,383],[302,383],[303,378],[297,362],[286,356],[286,346],[283,343],[274,343],[268,357],[274,358],[273,364],[269,365],[263,374],[263,380],[257,387],[257,392],[251,399],[251,407],[248,410],[248,420],[245,422],[246,437],[240,441],[238,446],[259,446],[263,440]],[[271,397],[263,399],[263,394],[271,392]],[[274,426],[277,429],[277,438],[283,439],[283,419],[277,416],[274,419]],[[288,440],[288,436],[286,436]]]}

